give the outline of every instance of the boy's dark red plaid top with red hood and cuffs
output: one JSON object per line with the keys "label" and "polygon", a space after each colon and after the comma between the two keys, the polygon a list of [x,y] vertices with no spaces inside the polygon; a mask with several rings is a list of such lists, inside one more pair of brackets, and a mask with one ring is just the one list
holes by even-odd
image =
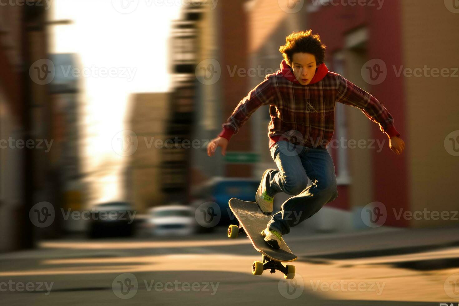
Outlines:
{"label": "boy's dark red plaid top with red hood and cuffs", "polygon": [[269,74],[242,99],[219,134],[230,139],[262,105],[269,105],[269,147],[287,140],[309,147],[326,147],[333,136],[336,102],[357,107],[366,117],[379,124],[389,137],[400,136],[393,118],[372,95],[341,75],[319,65],[308,85],[301,85],[290,67],[281,63],[281,70]]}

